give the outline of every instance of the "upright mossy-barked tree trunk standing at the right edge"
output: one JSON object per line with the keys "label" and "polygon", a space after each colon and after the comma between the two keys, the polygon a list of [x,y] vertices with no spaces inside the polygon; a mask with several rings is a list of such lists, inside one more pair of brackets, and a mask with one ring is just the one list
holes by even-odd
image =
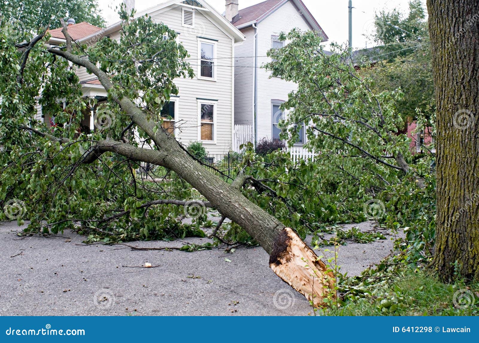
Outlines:
{"label": "upright mossy-barked tree trunk standing at the right edge", "polygon": [[427,7],[437,106],[433,266],[443,280],[479,279],[479,1]]}

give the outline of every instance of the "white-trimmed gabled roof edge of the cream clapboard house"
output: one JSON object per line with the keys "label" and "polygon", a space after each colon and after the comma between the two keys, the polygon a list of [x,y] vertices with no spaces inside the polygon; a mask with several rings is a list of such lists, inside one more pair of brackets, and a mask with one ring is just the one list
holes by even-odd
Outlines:
{"label": "white-trimmed gabled roof edge of the cream clapboard house", "polygon": [[[150,7],[146,10],[138,11],[137,13],[135,13],[135,18],[141,17],[145,14],[148,14],[149,16],[152,16],[156,12],[161,11],[164,8],[169,7],[169,6],[174,6],[174,5],[187,6],[187,7],[190,7],[190,8],[194,8],[197,11],[202,12],[205,15],[206,18],[215,22],[215,24],[219,28],[221,28],[223,31],[227,31],[234,38],[235,43],[245,40],[244,34],[242,34],[233,24],[228,22],[228,20],[226,20],[225,17],[223,17],[217,10],[215,10],[212,6],[210,6],[205,0],[195,0],[194,2],[199,3],[201,5],[201,7],[190,6],[188,4],[183,3],[183,0],[167,0],[167,1],[164,1],[160,4],[158,4],[158,5]],[[97,36],[97,38],[98,38],[99,35],[100,36],[102,36],[102,35],[106,36],[108,34],[112,34],[112,33],[118,31],[121,28],[121,23],[122,23],[121,21],[116,22],[116,23],[114,23],[110,26],[105,27],[104,29],[102,29],[99,32],[95,32],[95,33],[92,33],[92,34],[90,34],[86,37],[83,37],[82,41],[88,42],[91,38],[93,38],[95,36]]]}

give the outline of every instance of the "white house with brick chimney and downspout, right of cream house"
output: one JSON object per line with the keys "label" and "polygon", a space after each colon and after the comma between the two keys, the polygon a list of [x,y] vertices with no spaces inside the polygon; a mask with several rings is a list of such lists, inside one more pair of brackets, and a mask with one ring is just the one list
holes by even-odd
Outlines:
{"label": "white house with brick chimney and downspout, right of cream house", "polygon": [[[301,0],[267,0],[242,10],[238,5],[238,0],[226,0],[226,18],[246,36],[235,46],[235,124],[252,126],[256,142],[279,139],[278,122],[287,115],[280,105],[297,85],[270,78],[271,72],[260,68],[271,61],[266,52],[284,46],[278,36],[293,28],[317,31],[324,41],[328,36]],[[305,136],[303,128],[297,145]]]}

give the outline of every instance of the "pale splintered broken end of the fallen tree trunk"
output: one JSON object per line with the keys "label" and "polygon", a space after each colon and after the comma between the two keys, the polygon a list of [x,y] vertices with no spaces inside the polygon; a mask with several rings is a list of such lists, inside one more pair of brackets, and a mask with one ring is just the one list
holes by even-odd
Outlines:
{"label": "pale splintered broken end of the fallen tree trunk", "polygon": [[[335,277],[328,267],[290,228],[287,233],[286,249],[270,263],[274,273],[303,294],[315,307],[326,307],[323,298],[335,298]],[[271,261],[270,261],[271,262]]]}

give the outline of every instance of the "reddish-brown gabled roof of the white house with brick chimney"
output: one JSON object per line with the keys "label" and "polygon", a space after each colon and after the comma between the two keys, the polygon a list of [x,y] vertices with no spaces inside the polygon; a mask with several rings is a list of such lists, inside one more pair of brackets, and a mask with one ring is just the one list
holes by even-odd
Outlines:
{"label": "reddish-brown gabled roof of the white house with brick chimney", "polygon": [[311,30],[319,31],[323,36],[323,41],[328,40],[328,36],[324,33],[319,23],[313,17],[302,0],[266,0],[256,5],[239,10],[239,19],[233,23],[237,28],[242,29],[244,27],[251,26],[252,24],[261,23],[270,14],[283,6],[286,2],[291,3],[296,7],[298,13],[300,13],[305,21],[308,23]]}

